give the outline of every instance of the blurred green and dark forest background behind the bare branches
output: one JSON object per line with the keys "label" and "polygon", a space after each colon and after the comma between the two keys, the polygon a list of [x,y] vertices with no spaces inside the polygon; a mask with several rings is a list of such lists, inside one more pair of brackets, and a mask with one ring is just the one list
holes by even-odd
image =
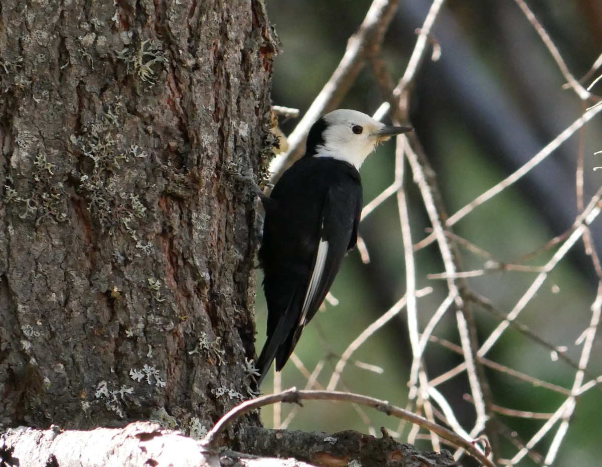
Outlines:
{"label": "blurred green and dark forest background behind the bare branches", "polygon": [[[589,71],[602,52],[602,2],[599,0],[530,1],[538,19],[559,48],[569,70],[577,78]],[[401,0],[383,52],[394,80],[403,75],[415,45],[415,30],[426,16],[431,2]],[[346,48],[347,39],[365,16],[370,2],[335,0],[268,1],[268,15],[282,40],[283,53],[275,64],[272,98],[276,105],[299,108],[302,113],[330,77]],[[533,157],[550,140],[568,127],[585,108],[565,83],[556,64],[532,25],[517,5],[508,0],[450,1],[434,28],[441,47],[441,58],[427,60],[418,73],[411,92],[411,123],[438,177],[445,207],[452,214],[506,175]],[[600,70],[594,77],[600,75]],[[591,82],[588,81],[586,86]],[[602,94],[602,84],[592,89]],[[373,113],[383,97],[367,67],[340,107]],[[290,133],[295,121],[281,127]],[[585,166],[585,203],[600,187],[602,172],[601,119],[597,116],[517,186],[477,208],[454,227],[455,233],[475,243],[503,262],[514,262],[540,248],[568,229],[577,211],[576,165],[582,154]],[[362,166],[365,203],[393,182],[393,143],[380,146]],[[409,170],[409,169],[408,169]],[[417,188],[406,177],[411,198],[412,239],[424,236],[429,222]],[[371,322],[382,315],[405,292],[403,246],[396,198],[389,198],[361,224],[371,262],[363,265],[358,252],[349,254],[335,281],[333,295],[338,306],[329,304],[306,328],[296,355],[309,371],[325,360],[318,382],[326,385],[338,358],[347,345]],[[592,225],[595,245],[600,251],[600,221]],[[552,251],[553,252],[553,251]],[[544,252],[527,264],[542,265],[552,252]],[[426,274],[444,270],[435,245],[416,255],[418,288],[434,291],[418,299],[418,313],[424,327],[447,295],[442,281],[429,280]],[[482,268],[486,259],[462,250],[465,270]],[[548,277],[538,295],[520,315],[519,321],[554,346],[566,346],[567,356],[579,360],[581,345],[576,344],[591,317],[598,279],[591,259],[578,242],[559,267]],[[508,313],[535,278],[533,273],[491,272],[469,280],[472,290],[488,298]],[[258,275],[258,283],[261,273]],[[262,293],[257,299],[258,346],[264,342],[267,311]],[[459,343],[453,313],[448,313],[436,328],[438,337]],[[476,309],[481,343],[500,321]],[[376,365],[381,373],[348,365],[339,389],[349,389],[405,406],[408,396],[411,351],[405,317],[378,331],[355,359]],[[588,368],[592,375],[602,372],[600,338]],[[510,368],[570,388],[576,370],[528,337],[509,330],[488,353],[488,358]],[[462,362],[441,346],[427,347],[426,368],[430,377],[442,374]],[[494,402],[503,407],[533,412],[554,412],[565,396],[533,387],[499,372],[488,372]],[[272,390],[270,377],[262,390]],[[305,386],[306,378],[288,363],[282,371],[282,386]],[[465,374],[439,387],[465,427],[474,422],[474,410],[465,400],[468,392]],[[374,431],[385,426],[402,440],[411,427],[374,412],[357,412],[343,404],[307,403],[290,428],[337,431],[353,428]],[[290,407],[283,407],[284,418]],[[316,416],[318,415],[318,416]],[[262,411],[264,423],[272,425],[272,413]],[[602,390],[585,393],[554,465],[597,465],[602,454]],[[500,416],[509,431],[519,439],[529,439],[543,421]],[[547,451],[551,436],[535,451]],[[427,445],[423,445],[426,448]],[[541,448],[541,449],[540,449]],[[502,457],[512,457],[517,449],[510,442],[501,444]],[[536,457],[520,465],[538,465]]]}

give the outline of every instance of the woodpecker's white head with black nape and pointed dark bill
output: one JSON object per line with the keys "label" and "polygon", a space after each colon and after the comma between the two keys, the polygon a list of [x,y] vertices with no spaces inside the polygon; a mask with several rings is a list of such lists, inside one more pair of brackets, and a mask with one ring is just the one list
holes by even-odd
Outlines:
{"label": "woodpecker's white head with black nape and pointed dark bill", "polygon": [[379,142],[411,130],[409,127],[389,127],[365,113],[340,108],[327,113],[312,126],[307,139],[307,155],[344,160],[359,170]]}

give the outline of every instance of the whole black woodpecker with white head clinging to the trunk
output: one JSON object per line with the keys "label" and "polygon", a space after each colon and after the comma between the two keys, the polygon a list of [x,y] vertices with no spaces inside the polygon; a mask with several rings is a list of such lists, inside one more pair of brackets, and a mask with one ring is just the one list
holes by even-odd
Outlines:
{"label": "whole black woodpecker with white head clinging to the trunk", "polygon": [[332,111],[311,127],[305,155],[263,200],[259,263],[268,318],[267,341],[256,364],[258,384],[273,360],[276,371],[287,363],[344,255],[357,242],[362,162],[377,143],[410,130],[355,110]]}

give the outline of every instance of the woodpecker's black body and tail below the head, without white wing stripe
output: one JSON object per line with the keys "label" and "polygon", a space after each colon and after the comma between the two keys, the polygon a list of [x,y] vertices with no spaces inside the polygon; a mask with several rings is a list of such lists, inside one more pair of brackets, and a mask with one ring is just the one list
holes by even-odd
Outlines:
{"label": "woodpecker's black body and tail below the head, without white wing stripe", "polygon": [[[268,307],[268,339],[257,362],[262,377],[274,359],[276,370],[282,369],[326,297],[344,255],[358,239],[361,209],[359,172],[342,160],[306,155],[276,183],[265,203],[259,249]],[[320,240],[327,242],[328,251],[302,319]]]}

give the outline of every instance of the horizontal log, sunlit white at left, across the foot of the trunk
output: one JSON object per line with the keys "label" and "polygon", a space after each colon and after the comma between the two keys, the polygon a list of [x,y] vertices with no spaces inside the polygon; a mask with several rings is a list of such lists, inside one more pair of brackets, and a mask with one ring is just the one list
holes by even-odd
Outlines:
{"label": "horizontal log, sunlit white at left, across the foot of the trunk", "polygon": [[158,424],[61,431],[17,428],[0,438],[0,465],[33,467],[296,466],[455,467],[450,453],[423,453],[391,438],[356,431],[305,433],[250,427],[243,433],[247,454],[204,453],[199,443]]}

